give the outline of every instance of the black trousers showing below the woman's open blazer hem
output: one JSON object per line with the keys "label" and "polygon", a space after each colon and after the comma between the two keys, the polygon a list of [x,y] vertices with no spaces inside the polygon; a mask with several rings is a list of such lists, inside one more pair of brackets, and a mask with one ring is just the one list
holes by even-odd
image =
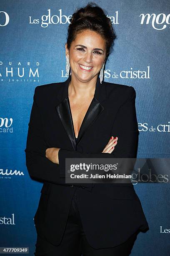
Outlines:
{"label": "black trousers showing below the woman's open blazer hem", "polygon": [[[77,188],[78,189],[78,188]],[[34,255],[37,256],[128,256],[133,248],[137,233],[134,233],[124,243],[112,247],[95,249],[87,242],[80,213],[77,205],[76,190],[72,199],[67,224],[62,241],[59,246],[54,246],[51,243],[37,236],[37,243]]]}

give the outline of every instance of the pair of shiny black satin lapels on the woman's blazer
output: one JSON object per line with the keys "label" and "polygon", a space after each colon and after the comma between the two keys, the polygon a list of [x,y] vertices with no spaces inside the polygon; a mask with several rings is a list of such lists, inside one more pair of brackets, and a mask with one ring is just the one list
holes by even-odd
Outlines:
{"label": "pair of shiny black satin lapels on the woman's blazer", "polygon": [[99,117],[99,115],[104,110],[104,107],[100,104],[106,98],[106,88],[105,82],[100,84],[100,79],[97,77],[96,87],[95,87],[95,94],[90,103],[90,106],[85,114],[85,117],[82,121],[80,131],[77,137],[77,143],[75,138],[75,131],[74,125],[72,120],[72,114],[70,109],[70,102],[68,98],[68,86],[71,80],[71,76],[65,82],[62,82],[62,87],[57,92],[57,101],[58,104],[55,106],[57,114],[62,122],[62,125],[67,132],[67,135],[71,141],[72,147],[74,150],[77,150],[77,145],[81,141],[82,137],[84,136],[87,128],[95,122],[95,120]]}

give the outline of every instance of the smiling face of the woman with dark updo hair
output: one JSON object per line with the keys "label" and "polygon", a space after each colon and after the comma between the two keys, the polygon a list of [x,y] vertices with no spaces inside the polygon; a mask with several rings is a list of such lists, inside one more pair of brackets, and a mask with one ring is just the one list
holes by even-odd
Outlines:
{"label": "smiling face of the woman with dark updo hair", "polygon": [[97,76],[106,57],[105,40],[96,32],[84,30],[72,41],[70,50],[65,44],[69,57],[71,75],[81,82],[90,81]]}

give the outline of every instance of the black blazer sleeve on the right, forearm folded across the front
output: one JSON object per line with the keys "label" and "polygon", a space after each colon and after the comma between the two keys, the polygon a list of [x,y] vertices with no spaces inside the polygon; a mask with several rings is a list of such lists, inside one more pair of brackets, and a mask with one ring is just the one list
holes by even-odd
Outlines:
{"label": "black blazer sleeve on the right, forearm folded across the front", "polygon": [[128,87],[126,100],[116,114],[110,134],[111,136],[118,137],[114,151],[111,154],[81,153],[61,148],[58,152],[58,159],[62,172],[65,172],[66,158],[136,158],[139,131],[135,110],[135,97],[135,89],[132,86]]}

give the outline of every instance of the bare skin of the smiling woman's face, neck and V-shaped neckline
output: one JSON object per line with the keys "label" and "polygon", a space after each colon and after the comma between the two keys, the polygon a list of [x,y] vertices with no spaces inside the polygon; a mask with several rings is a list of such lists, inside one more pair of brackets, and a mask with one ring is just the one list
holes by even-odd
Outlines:
{"label": "bare skin of the smiling woman's face, neck and V-shaped neckline", "polygon": [[103,72],[107,56],[105,41],[99,33],[82,28],[71,44],[69,37],[65,44],[66,58],[69,59],[72,74],[68,92],[76,137],[94,97],[96,77],[101,69]]}

